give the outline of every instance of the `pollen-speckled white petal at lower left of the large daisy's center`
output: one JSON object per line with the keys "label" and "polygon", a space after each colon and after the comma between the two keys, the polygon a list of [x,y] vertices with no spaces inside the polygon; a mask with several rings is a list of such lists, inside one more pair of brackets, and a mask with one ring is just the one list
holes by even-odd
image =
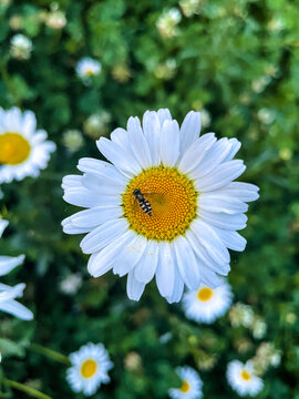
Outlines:
{"label": "pollen-speckled white petal at lower left of the large daisy's center", "polygon": [[144,236],[131,232],[131,241],[123,245],[123,249],[114,260],[113,273],[121,277],[131,272],[140,262],[147,245]]}

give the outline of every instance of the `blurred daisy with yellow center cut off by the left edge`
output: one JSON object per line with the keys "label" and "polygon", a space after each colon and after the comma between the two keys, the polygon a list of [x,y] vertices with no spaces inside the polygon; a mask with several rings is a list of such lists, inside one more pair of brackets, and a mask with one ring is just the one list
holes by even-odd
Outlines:
{"label": "blurred daisy with yellow center cut off by the left edge", "polygon": [[37,130],[32,111],[0,108],[0,183],[37,177],[47,167],[55,144],[47,141],[47,133]]}

